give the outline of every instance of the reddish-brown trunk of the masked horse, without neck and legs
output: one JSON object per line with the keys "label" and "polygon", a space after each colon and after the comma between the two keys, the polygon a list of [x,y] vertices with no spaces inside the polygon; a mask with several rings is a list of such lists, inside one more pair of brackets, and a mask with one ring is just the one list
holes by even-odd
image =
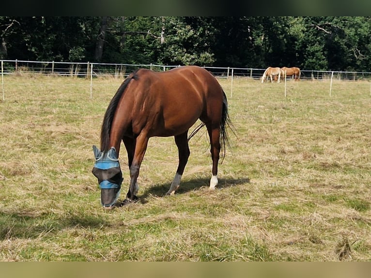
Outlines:
{"label": "reddish-brown trunk of the masked horse, without neck and legs", "polygon": [[216,78],[201,67],[165,72],[140,69],[133,79],[125,92],[125,110],[133,117],[134,133],[146,129],[150,137],[172,136],[185,132],[199,118],[221,117],[224,92]]}

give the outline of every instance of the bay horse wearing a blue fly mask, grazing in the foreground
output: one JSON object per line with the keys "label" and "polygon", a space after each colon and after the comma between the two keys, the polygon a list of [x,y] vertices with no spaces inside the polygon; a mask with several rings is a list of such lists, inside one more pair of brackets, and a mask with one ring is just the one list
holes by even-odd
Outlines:
{"label": "bay horse wearing a blue fly mask, grazing in the foreground", "polygon": [[[188,137],[189,128],[201,124]],[[166,72],[139,69],[125,78],[104,115],[100,149],[93,146],[93,174],[101,188],[101,203],[111,208],[123,181],[119,164],[120,144],[124,142],[130,170],[130,186],[121,204],[138,200],[139,168],[151,137],[174,136],[179,164],[167,192],[179,187],[189,157],[188,140],[206,125],[213,161],[210,189],[218,183],[220,149],[228,143],[230,124],[227,97],[216,78],[198,66],[183,66]],[[223,156],[224,157],[224,156]]]}

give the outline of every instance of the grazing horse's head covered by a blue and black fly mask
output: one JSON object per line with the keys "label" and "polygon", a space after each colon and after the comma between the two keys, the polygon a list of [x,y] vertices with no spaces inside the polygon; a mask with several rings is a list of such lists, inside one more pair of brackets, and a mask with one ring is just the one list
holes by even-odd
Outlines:
{"label": "grazing horse's head covered by a blue and black fly mask", "polygon": [[120,195],[123,174],[120,169],[116,149],[111,147],[107,153],[102,153],[93,146],[95,164],[93,175],[98,179],[101,189],[101,202],[105,208],[111,208]]}

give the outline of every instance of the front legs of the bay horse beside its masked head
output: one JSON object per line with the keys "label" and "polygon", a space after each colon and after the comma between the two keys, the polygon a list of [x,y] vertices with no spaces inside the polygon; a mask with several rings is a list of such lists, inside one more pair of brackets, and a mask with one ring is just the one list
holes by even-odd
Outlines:
{"label": "front legs of the bay horse beside its masked head", "polygon": [[[131,150],[132,159],[131,159],[131,154],[128,152],[128,158],[129,158],[129,169],[130,169],[130,186],[129,186],[129,191],[126,194],[126,199],[124,200],[124,204],[131,202],[131,201],[136,201],[138,200],[137,194],[138,194],[138,176],[139,176],[139,168],[140,165],[143,161],[144,154],[147,150],[147,145],[148,145],[148,137],[144,134],[140,134],[137,139],[134,139],[132,142],[134,147],[129,148]],[[124,141],[125,142],[125,141]],[[129,140],[126,141],[127,143],[125,144],[125,147],[128,148],[130,146]],[[131,160],[131,163],[130,163]]]}

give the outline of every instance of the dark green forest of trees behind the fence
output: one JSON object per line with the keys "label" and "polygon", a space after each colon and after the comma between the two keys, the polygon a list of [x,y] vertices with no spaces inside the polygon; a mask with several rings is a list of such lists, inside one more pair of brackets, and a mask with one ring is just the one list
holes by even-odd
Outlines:
{"label": "dark green forest of trees behind the fence", "polygon": [[371,16],[0,16],[0,59],[370,71]]}

